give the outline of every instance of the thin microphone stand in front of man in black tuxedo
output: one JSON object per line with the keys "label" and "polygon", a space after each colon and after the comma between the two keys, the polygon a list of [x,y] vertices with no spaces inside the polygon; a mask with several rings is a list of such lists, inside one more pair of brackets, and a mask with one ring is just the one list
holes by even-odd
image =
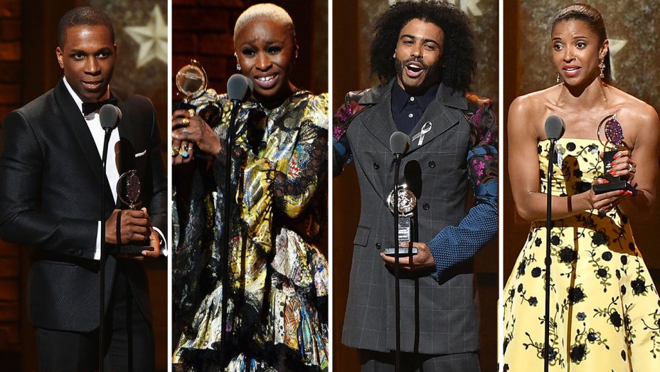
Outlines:
{"label": "thin microphone stand in front of man in black tuxedo", "polygon": [[[105,169],[107,166],[107,147],[110,142],[110,135],[112,134],[112,127],[104,127],[105,138],[103,139],[103,159],[102,159],[102,182],[101,186],[101,233],[100,233],[100,243],[101,243],[101,259],[100,259],[100,269],[99,269],[99,372],[103,372],[103,354],[104,354],[104,326],[105,323],[105,262],[107,261],[107,248],[105,243]],[[117,242],[119,244],[119,242]]]}

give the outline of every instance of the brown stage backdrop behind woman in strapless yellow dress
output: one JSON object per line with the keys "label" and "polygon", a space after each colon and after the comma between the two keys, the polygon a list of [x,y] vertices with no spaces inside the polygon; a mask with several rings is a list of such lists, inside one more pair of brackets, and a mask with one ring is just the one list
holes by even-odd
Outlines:
{"label": "brown stage backdrop behind woman in strapless yellow dress", "polygon": [[[612,54],[612,85],[660,110],[660,2],[584,1],[598,9],[607,28]],[[550,31],[554,16],[573,1],[504,2],[504,117],[518,95],[555,85],[557,73],[552,63]],[[632,25],[635,25],[634,27]],[[504,125],[506,131],[506,125]],[[506,144],[506,141],[503,141]],[[504,150],[515,152],[506,146]],[[508,169],[504,169],[504,280],[527,237],[529,224],[516,216]],[[658,208],[649,211],[645,223],[634,223],[635,240],[651,270],[656,286],[660,283],[660,250],[657,249]]]}

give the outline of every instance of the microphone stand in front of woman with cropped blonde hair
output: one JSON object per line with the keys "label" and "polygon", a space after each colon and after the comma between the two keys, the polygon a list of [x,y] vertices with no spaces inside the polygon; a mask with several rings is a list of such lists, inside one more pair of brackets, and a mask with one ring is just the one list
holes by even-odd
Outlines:
{"label": "microphone stand in front of woman with cropped blonde hair", "polygon": [[227,128],[227,148],[225,149],[225,239],[223,239],[223,301],[222,301],[222,321],[220,323],[220,366],[225,368],[225,356],[227,354],[227,305],[230,293],[229,283],[229,243],[231,240],[231,202],[234,195],[231,192],[231,152],[234,146],[234,126],[240,100],[231,100],[231,114],[229,117],[229,126]]}

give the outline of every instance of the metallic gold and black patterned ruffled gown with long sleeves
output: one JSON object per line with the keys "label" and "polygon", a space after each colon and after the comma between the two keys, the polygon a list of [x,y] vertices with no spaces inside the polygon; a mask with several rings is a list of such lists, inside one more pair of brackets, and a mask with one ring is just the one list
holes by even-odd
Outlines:
{"label": "metallic gold and black patterned ruffled gown with long sleeves", "polygon": [[[230,102],[220,95],[215,103],[215,132],[223,139]],[[254,101],[241,107],[232,154],[233,204],[240,208],[232,212],[226,371],[327,368],[328,265],[314,246],[326,220],[327,112],[326,94],[304,91],[274,110]],[[196,161],[189,211],[175,213],[181,336],[173,362],[181,371],[218,371],[225,153]]]}

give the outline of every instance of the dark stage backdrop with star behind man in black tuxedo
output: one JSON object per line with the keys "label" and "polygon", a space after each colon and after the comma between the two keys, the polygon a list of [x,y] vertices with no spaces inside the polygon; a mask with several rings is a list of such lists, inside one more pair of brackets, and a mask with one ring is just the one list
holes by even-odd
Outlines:
{"label": "dark stage backdrop with star behind man in black tuxedo", "polygon": [[[55,87],[63,71],[55,59],[60,18],[75,6],[103,9],[115,26],[113,90],[146,95],[167,137],[166,0],[0,0],[0,122],[6,114]],[[0,128],[1,134],[1,128]],[[169,160],[169,157],[166,159]],[[30,251],[0,241],[0,369],[36,371],[36,345],[25,308]],[[167,262],[150,262],[156,371],[166,371]]]}

